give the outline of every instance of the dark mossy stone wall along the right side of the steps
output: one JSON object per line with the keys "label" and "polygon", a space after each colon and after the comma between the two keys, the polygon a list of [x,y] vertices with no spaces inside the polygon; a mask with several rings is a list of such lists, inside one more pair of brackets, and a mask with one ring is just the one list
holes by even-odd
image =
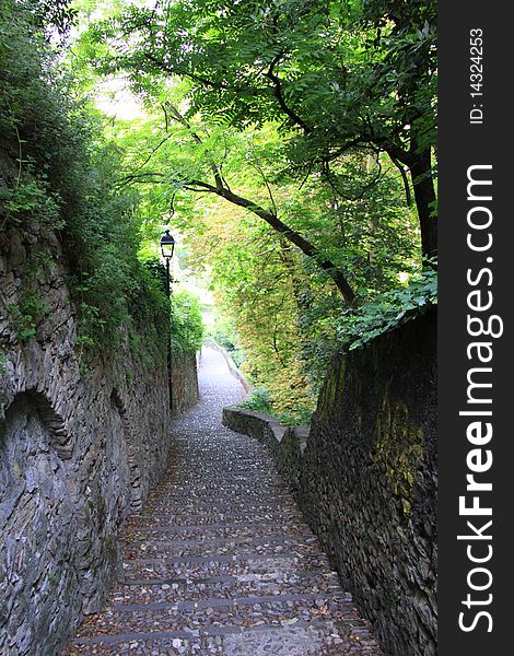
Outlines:
{"label": "dark mossy stone wall along the right side of the steps", "polygon": [[308,429],[225,409],[267,443],[390,656],[436,653],[435,312],[332,362]]}

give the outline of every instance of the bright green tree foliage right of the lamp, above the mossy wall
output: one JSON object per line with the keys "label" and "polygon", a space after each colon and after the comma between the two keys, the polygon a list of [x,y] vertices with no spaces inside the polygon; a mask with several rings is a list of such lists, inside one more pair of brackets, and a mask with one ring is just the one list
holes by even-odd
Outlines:
{"label": "bright green tree foliage right of the lamp, above the mossy wall", "polygon": [[[404,4],[121,3],[79,43],[97,71],[127,73],[147,108],[130,129],[113,125],[143,230],[173,209],[236,332],[218,321],[214,338],[278,412],[312,409],[351,314],[324,265],[357,305],[420,266],[408,175],[434,143],[434,3]],[[211,200],[220,187],[245,211]]]}

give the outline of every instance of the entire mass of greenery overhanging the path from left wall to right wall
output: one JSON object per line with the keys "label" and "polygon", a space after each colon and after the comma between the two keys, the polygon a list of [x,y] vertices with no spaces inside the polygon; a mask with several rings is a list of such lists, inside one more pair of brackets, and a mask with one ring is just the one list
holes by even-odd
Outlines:
{"label": "entire mass of greenery overhanging the path from left wall to right wall", "polygon": [[[132,254],[166,223],[179,231],[226,341],[282,410],[312,407],[338,343],[363,343],[434,301],[422,268],[436,255],[435,2],[4,7],[3,56],[19,66],[0,71],[2,127],[23,162],[8,219],[45,206],[71,254],[90,254],[78,282],[90,332],[115,335],[142,289],[129,284],[132,265],[121,269],[132,271],[116,285],[127,293],[106,319],[121,226]],[[139,103],[130,119],[98,109],[100,86],[108,95],[118,83]],[[197,344],[200,308],[189,320],[179,305],[174,329]]]}

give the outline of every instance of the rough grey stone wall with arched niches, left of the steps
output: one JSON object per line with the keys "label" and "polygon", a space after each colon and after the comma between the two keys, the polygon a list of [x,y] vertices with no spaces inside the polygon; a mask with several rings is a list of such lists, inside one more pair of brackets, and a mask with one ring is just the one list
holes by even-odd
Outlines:
{"label": "rough grey stone wall with arched niches, left of the steps", "polygon": [[[166,464],[167,373],[124,335],[114,355],[85,367],[58,239],[36,222],[2,237],[0,653],[48,656],[102,606],[118,566],[116,531]],[[46,309],[23,340],[27,269]]]}

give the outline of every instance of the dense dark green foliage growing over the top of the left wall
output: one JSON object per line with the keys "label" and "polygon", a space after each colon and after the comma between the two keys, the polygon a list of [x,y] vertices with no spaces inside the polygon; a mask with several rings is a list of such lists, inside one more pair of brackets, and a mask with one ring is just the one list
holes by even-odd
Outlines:
{"label": "dense dark green foliage growing over the top of the left wall", "polygon": [[[100,113],[51,46],[74,19],[69,2],[7,0],[0,5],[0,129],[13,163],[2,190],[0,227],[22,233],[35,221],[61,231],[70,288],[79,311],[78,345],[115,351],[128,330],[149,366],[163,364],[160,342],[170,333],[164,294],[138,260],[138,195],[116,187],[117,145]],[[36,336],[45,308],[30,296],[36,271],[50,266],[39,253],[24,273],[25,292],[10,313],[19,338]],[[28,291],[27,291],[28,290]],[[148,353],[151,354],[150,359]]]}

